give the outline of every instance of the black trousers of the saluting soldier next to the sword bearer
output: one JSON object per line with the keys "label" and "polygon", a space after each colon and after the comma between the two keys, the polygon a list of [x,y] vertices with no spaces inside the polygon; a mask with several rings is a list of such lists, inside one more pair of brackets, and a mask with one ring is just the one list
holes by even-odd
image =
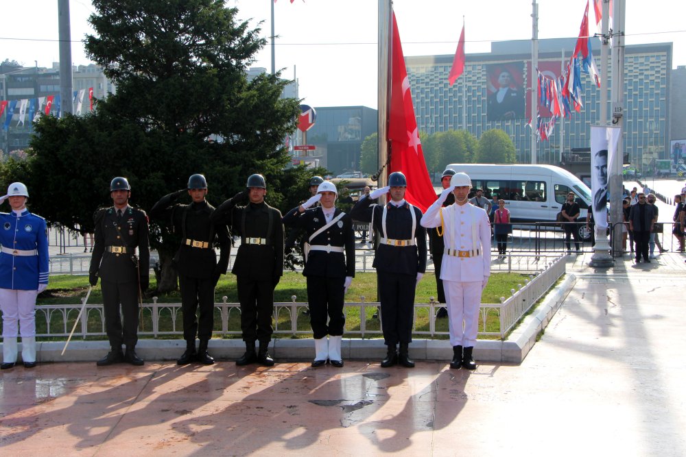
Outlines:
{"label": "black trousers of the saluting soldier next to the sword bearer", "polygon": [[[200,340],[209,340],[214,327],[214,281],[209,277],[178,275],[178,286],[181,289],[183,339],[195,342],[197,333]],[[196,319],[198,308],[200,319]]]}

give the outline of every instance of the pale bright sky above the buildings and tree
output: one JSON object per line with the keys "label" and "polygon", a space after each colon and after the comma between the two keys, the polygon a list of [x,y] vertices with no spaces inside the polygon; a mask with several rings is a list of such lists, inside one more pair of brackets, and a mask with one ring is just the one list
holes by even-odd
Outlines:
{"label": "pale bright sky above the buildings and tree", "polygon": [[[56,0],[3,3],[0,15],[0,60],[25,66],[58,62]],[[272,0],[226,0],[238,8],[237,17],[261,27],[269,37]],[[673,42],[673,68],[686,65],[686,4],[681,0],[628,0],[626,45]],[[576,38],[586,0],[538,0],[539,39]],[[287,79],[297,77],[299,96],[311,106],[377,107],[378,1],[277,0],[274,3],[276,70]],[[678,6],[681,5],[681,6]],[[72,61],[88,64],[80,40],[93,30],[88,16],[95,12],[89,0],[70,0]],[[395,0],[405,56],[453,55],[464,16],[466,53],[490,51],[490,42],[530,40],[531,0]],[[670,14],[666,14],[670,12]],[[260,22],[262,22],[260,24]],[[595,32],[593,4],[589,8]],[[567,50],[568,52],[571,49]],[[600,50],[594,49],[596,60]],[[252,66],[271,69],[271,47],[256,55]],[[459,79],[453,86],[459,90]]]}

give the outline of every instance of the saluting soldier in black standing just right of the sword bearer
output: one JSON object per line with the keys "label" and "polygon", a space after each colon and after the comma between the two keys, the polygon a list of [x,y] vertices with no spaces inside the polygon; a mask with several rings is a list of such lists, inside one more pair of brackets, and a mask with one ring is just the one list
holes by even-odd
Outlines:
{"label": "saluting soldier in black standing just right of the sword bearer", "polygon": [[[187,193],[193,200],[190,205],[175,203]],[[210,223],[210,214],[215,210],[207,203],[207,181],[203,175],[191,175],[186,189],[165,195],[150,210],[150,216],[169,222],[176,233],[181,234],[181,245],[174,256],[178,271],[183,310],[183,338],[186,351],[176,361],[187,365],[193,360],[212,365],[214,359],[207,351],[214,327],[214,294],[217,281],[226,273],[230,241],[226,225]],[[214,250],[215,240],[220,247],[220,260]],[[196,310],[200,308],[200,319]],[[196,331],[200,344],[196,351]]]}

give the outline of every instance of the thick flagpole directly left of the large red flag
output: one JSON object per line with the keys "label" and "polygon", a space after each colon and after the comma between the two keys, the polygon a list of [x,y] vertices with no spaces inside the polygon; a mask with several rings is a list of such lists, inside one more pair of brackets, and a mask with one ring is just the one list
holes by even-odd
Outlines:
{"label": "thick flagpole directly left of the large red flag", "polygon": [[[388,91],[390,86],[390,0],[379,0],[379,169],[388,159]],[[386,186],[386,173],[381,173],[377,186]]]}

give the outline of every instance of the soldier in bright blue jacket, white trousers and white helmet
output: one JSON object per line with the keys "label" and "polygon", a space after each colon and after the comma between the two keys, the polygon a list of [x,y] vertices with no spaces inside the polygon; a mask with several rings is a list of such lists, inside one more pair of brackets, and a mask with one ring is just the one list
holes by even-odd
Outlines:
{"label": "soldier in bright blue jacket, white trousers and white helmet", "polygon": [[0,213],[0,308],[3,321],[3,360],[0,368],[16,364],[16,338],[21,331],[24,368],[36,366],[36,296],[48,280],[48,247],[45,219],[26,209],[29,190],[21,182],[10,184],[10,212]]}

